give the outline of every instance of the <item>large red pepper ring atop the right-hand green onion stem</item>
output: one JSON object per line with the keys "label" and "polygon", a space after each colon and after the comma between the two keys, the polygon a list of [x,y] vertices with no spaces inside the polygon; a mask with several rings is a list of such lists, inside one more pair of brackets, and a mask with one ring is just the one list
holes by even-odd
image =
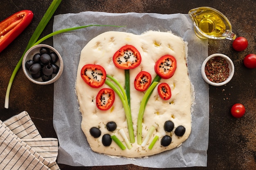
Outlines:
{"label": "large red pepper ring atop the right-hand green onion stem", "polygon": [[177,62],[172,55],[164,55],[155,63],[155,72],[163,79],[171,78],[176,70]]}

